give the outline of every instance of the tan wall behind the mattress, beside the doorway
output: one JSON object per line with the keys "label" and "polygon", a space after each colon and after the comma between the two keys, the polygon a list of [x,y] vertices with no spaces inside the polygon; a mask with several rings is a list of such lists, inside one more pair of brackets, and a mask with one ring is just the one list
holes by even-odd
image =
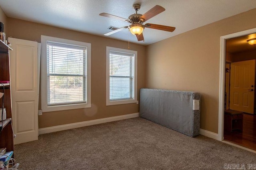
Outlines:
{"label": "tan wall behind the mattress, beside the doorway", "polygon": [[146,87],[200,92],[200,128],[218,133],[220,37],[256,28],[255,16],[250,10],[148,45]]}

